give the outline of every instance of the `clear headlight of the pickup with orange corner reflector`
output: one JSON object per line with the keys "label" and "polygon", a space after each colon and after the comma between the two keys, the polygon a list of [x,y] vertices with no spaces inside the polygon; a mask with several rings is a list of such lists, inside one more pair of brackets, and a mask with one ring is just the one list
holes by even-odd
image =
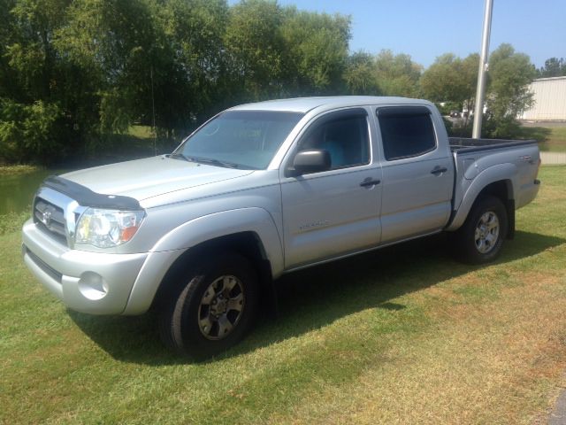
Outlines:
{"label": "clear headlight of the pickup with orange corner reflector", "polygon": [[77,223],[75,243],[111,248],[132,239],[145,217],[143,211],[88,208]]}

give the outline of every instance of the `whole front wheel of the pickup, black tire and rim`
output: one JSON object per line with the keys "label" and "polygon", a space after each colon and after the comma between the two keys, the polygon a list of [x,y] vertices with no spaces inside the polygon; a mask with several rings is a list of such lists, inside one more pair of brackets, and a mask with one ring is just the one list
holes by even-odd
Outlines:
{"label": "whole front wheel of the pickup, black tire and rim", "polygon": [[248,259],[232,252],[210,253],[188,268],[161,310],[160,332],[176,352],[207,359],[240,342],[251,328],[257,276]]}

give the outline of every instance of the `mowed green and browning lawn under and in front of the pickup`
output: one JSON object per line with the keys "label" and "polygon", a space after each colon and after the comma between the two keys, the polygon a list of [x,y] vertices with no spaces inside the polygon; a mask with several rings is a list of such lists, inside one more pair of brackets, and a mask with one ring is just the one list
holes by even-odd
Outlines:
{"label": "mowed green and browning lawn under and in front of the pickup", "polygon": [[155,317],[65,310],[0,236],[0,423],[546,423],[566,372],[566,166],[493,265],[444,237],[279,282],[280,314],[190,363]]}

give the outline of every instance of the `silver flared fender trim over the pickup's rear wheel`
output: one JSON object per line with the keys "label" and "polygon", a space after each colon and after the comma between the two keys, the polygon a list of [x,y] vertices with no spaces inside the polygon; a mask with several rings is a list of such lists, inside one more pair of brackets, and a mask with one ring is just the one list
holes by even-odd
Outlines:
{"label": "silver flared fender trim over the pickup's rear wheel", "polygon": [[[511,188],[511,198],[515,199],[515,188],[516,185],[516,174],[517,168],[515,164],[505,163],[498,164],[496,166],[490,166],[484,171],[480,172],[474,180],[470,183],[463,194],[462,202],[458,205],[454,219],[448,225],[448,231],[454,231],[463,225],[463,222],[468,217],[472,205],[476,202],[479,193],[486,188],[487,185],[494,182],[510,181]],[[465,182],[465,181],[464,181]]]}

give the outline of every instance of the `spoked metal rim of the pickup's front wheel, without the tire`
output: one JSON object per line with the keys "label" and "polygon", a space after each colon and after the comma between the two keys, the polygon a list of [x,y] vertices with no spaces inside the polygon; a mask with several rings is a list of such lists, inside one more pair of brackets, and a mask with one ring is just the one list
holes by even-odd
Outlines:
{"label": "spoked metal rim of the pickup's front wheel, without the tire", "polygon": [[243,286],[236,276],[223,275],[210,283],[198,307],[198,327],[203,336],[218,340],[230,335],[244,305]]}

